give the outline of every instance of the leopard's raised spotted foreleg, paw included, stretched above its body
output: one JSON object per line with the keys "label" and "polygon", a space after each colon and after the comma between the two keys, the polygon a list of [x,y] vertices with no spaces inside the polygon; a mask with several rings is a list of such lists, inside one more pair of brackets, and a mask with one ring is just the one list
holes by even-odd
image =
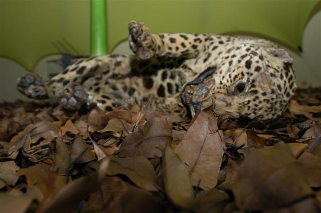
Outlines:
{"label": "leopard's raised spotted foreleg, paw included, stretched above its body", "polygon": [[141,22],[130,22],[129,46],[139,59],[158,56],[196,58],[206,47],[206,34],[151,34]]}

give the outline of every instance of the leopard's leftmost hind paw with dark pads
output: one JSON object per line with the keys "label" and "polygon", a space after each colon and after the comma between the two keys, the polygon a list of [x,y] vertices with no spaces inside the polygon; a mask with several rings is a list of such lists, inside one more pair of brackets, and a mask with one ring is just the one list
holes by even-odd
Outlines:
{"label": "leopard's leftmost hind paw with dark pads", "polygon": [[45,81],[34,73],[28,73],[18,80],[18,91],[28,98],[47,99],[48,88]]}

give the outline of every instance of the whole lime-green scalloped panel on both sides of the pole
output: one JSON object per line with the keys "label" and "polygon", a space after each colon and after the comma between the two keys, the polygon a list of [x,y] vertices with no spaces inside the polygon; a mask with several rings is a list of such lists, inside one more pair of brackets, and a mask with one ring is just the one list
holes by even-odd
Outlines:
{"label": "whole lime-green scalloped panel on both sides of the pole", "polygon": [[[96,0],[97,1],[97,0]],[[89,55],[89,1],[0,0],[0,56],[32,71],[51,44],[66,39]],[[297,50],[311,11],[320,1],[107,1],[109,52],[127,38],[131,20],[153,33],[256,35]]]}

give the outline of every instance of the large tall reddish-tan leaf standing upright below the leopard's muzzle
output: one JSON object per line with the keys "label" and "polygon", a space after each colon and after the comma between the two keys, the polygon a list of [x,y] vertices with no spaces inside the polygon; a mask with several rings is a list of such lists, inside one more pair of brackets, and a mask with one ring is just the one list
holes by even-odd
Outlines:
{"label": "large tall reddish-tan leaf standing upright below the leopard's muzzle", "polygon": [[217,184],[224,153],[224,136],[211,110],[201,112],[175,152],[191,172],[194,186],[208,190]]}

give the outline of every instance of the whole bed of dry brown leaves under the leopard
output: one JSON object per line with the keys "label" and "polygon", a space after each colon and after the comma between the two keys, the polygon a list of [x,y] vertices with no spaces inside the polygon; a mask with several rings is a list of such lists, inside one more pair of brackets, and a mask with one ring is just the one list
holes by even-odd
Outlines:
{"label": "whole bed of dry brown leaves under the leopard", "polygon": [[[305,98],[304,98],[305,97]],[[321,90],[284,117],[0,105],[1,212],[320,212]]]}

